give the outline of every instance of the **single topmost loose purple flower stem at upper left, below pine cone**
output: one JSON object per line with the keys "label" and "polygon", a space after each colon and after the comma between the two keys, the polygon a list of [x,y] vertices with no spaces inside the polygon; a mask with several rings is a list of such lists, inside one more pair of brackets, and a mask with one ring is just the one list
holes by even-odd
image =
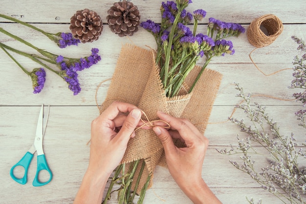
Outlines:
{"label": "single topmost loose purple flower stem at upper left, below pine cone", "polygon": [[48,37],[51,41],[54,41],[55,43],[57,43],[57,45],[60,48],[65,48],[66,46],[70,46],[70,45],[78,45],[78,43],[80,43],[80,40],[73,38],[71,33],[64,33],[64,32],[59,32],[59,33],[55,33],[55,34],[54,33],[48,33],[48,32],[45,32],[44,30],[42,30],[42,29],[40,29],[40,28],[38,28],[38,27],[36,27],[32,24],[23,22],[22,20],[18,20],[18,19],[3,15],[3,14],[0,14],[0,17],[3,18],[3,19],[7,19],[7,20],[11,20],[13,22],[20,23],[24,26],[27,26],[29,28],[32,28],[36,31],[41,32],[46,37]]}

